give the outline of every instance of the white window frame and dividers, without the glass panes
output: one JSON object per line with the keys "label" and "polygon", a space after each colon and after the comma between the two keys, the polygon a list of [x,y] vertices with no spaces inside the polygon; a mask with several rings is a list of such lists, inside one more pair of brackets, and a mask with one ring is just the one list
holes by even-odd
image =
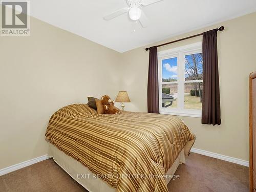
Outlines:
{"label": "white window frame and dividers, without the glass panes", "polygon": [[[189,80],[185,81],[185,55],[202,53],[202,41],[195,44],[190,44],[174,49],[164,50],[158,52],[158,87],[159,87],[159,111],[161,114],[188,116],[188,117],[202,117],[202,110],[184,109],[184,86],[185,82],[203,82],[203,80]],[[177,57],[178,67],[178,81],[162,82],[162,60],[167,58]],[[176,109],[162,108],[162,84],[176,84],[178,83],[178,103]]]}

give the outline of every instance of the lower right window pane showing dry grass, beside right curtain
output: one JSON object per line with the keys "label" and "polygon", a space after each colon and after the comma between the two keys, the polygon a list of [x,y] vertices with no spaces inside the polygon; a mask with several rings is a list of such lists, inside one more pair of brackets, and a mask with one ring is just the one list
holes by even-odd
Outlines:
{"label": "lower right window pane showing dry grass, beside right curtain", "polygon": [[185,83],[184,109],[202,109],[203,83]]}

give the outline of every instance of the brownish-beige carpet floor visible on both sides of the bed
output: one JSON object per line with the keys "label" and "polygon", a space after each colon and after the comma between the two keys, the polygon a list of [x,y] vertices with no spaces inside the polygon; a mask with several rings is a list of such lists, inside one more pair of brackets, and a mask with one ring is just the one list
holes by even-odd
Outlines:
{"label": "brownish-beige carpet floor visible on both sides of the bed", "polygon": [[[169,191],[249,191],[248,167],[191,153],[176,172],[180,179],[170,181]],[[87,191],[53,159],[16,170],[0,177],[0,191]]]}

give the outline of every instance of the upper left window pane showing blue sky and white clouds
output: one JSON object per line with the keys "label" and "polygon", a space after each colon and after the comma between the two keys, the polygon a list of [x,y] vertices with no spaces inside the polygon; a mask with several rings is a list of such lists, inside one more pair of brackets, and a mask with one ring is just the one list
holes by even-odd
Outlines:
{"label": "upper left window pane showing blue sky and white clouds", "polygon": [[177,57],[162,60],[162,82],[178,80]]}

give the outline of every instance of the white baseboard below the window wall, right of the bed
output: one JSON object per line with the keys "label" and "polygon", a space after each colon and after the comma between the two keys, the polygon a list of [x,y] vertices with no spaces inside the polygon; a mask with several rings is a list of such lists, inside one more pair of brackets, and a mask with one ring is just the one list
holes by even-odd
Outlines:
{"label": "white baseboard below the window wall, right of the bed", "polygon": [[198,153],[198,154],[209,156],[209,157],[213,157],[213,158],[216,158],[216,159],[221,159],[221,160],[224,160],[224,161],[229,161],[229,162],[244,165],[244,166],[247,166],[247,167],[249,166],[249,161],[245,161],[245,160],[242,160],[242,159],[229,157],[229,156],[221,155],[221,154],[217,154],[217,153],[207,152],[207,151],[204,151],[204,150],[199,150],[198,148],[191,148],[190,152]]}

